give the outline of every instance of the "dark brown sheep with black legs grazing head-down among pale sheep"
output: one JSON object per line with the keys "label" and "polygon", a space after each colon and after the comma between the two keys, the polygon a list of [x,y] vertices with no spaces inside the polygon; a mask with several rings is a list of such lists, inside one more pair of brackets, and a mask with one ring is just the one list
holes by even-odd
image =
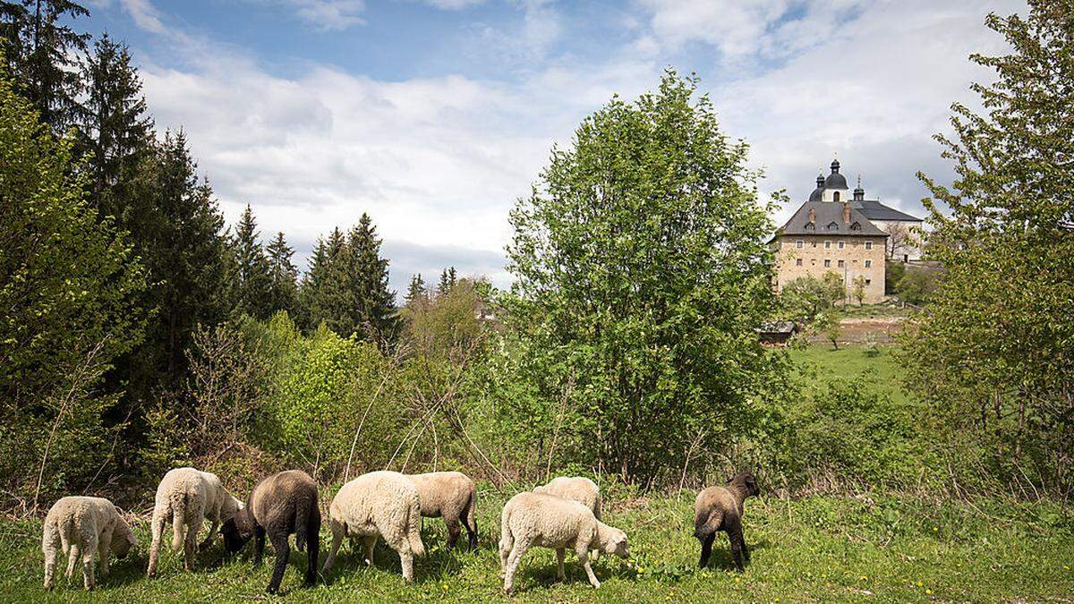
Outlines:
{"label": "dark brown sheep with black legs grazing head-down among pale sheep", "polygon": [[265,534],[276,551],[276,566],[268,581],[268,593],[279,591],[279,583],[291,556],[288,535],[294,545],[306,550],[306,587],[317,581],[317,552],[320,542],[321,512],[317,506],[317,483],[301,470],[274,474],[253,487],[246,508],[223,523],[224,548],[234,553],[253,540],[253,565],[261,565]]}

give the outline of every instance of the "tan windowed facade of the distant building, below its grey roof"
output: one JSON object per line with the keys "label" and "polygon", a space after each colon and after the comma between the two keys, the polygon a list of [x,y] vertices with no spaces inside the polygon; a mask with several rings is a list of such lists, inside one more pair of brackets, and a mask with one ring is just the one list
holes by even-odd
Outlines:
{"label": "tan windowed facade of the distant building, below its grey roof", "polygon": [[884,239],[833,234],[783,235],[775,241],[777,291],[782,291],[784,285],[798,277],[813,275],[822,278],[832,271],[843,277],[848,300],[856,302],[852,294],[854,278],[863,275],[868,281],[865,302],[883,302]]}

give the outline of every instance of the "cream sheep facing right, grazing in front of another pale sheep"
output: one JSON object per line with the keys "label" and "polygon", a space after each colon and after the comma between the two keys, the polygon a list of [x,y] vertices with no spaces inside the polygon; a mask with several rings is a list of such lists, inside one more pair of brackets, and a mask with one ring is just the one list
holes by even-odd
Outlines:
{"label": "cream sheep facing right, grazing in front of another pale sheep", "polygon": [[560,580],[565,580],[563,557],[571,548],[585,569],[590,585],[600,587],[593,574],[589,551],[597,549],[626,558],[626,533],[596,519],[593,510],[577,501],[543,493],[519,493],[504,506],[500,517],[499,566],[504,591],[514,589],[514,573],[522,556],[531,547],[555,549]]}

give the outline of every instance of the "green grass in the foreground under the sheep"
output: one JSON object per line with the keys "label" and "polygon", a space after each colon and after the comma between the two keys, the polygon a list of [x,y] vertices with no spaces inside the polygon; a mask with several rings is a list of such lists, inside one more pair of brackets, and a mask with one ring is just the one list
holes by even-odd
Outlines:
{"label": "green grass in the foreground under the sheep", "polygon": [[[474,601],[505,600],[498,576],[496,541],[503,498],[483,491],[477,552],[446,551],[444,528],[426,520],[430,556],[416,563],[417,583],[404,584],[398,558],[378,546],[376,565],[365,567],[344,546],[326,583],[301,588],[302,553],[293,553],[284,577],[284,596],[302,601]],[[1011,509],[1001,503],[932,504],[892,498],[809,498],[795,502],[751,500],[746,543],[753,562],[731,572],[726,540],[717,541],[711,570],[698,571],[692,536],[692,493],[681,499],[618,502],[608,521],[625,529],[632,566],[603,557],[596,564],[604,585],[593,591],[568,558],[566,584],[555,583],[554,555],[536,549],[523,560],[518,579],[521,601],[877,602],[1040,601],[1074,598],[1074,527],[1054,504]],[[204,552],[200,569],[183,573],[178,557],[163,555],[157,579],[144,576],[146,526],[140,550],[116,565],[91,594],[81,578],[41,590],[40,522],[0,524],[0,593],[8,601],[208,601],[261,598],[271,555],[252,570],[249,552],[223,561],[219,545]],[[322,533],[321,543],[326,544]],[[271,548],[268,550],[271,553]]]}

